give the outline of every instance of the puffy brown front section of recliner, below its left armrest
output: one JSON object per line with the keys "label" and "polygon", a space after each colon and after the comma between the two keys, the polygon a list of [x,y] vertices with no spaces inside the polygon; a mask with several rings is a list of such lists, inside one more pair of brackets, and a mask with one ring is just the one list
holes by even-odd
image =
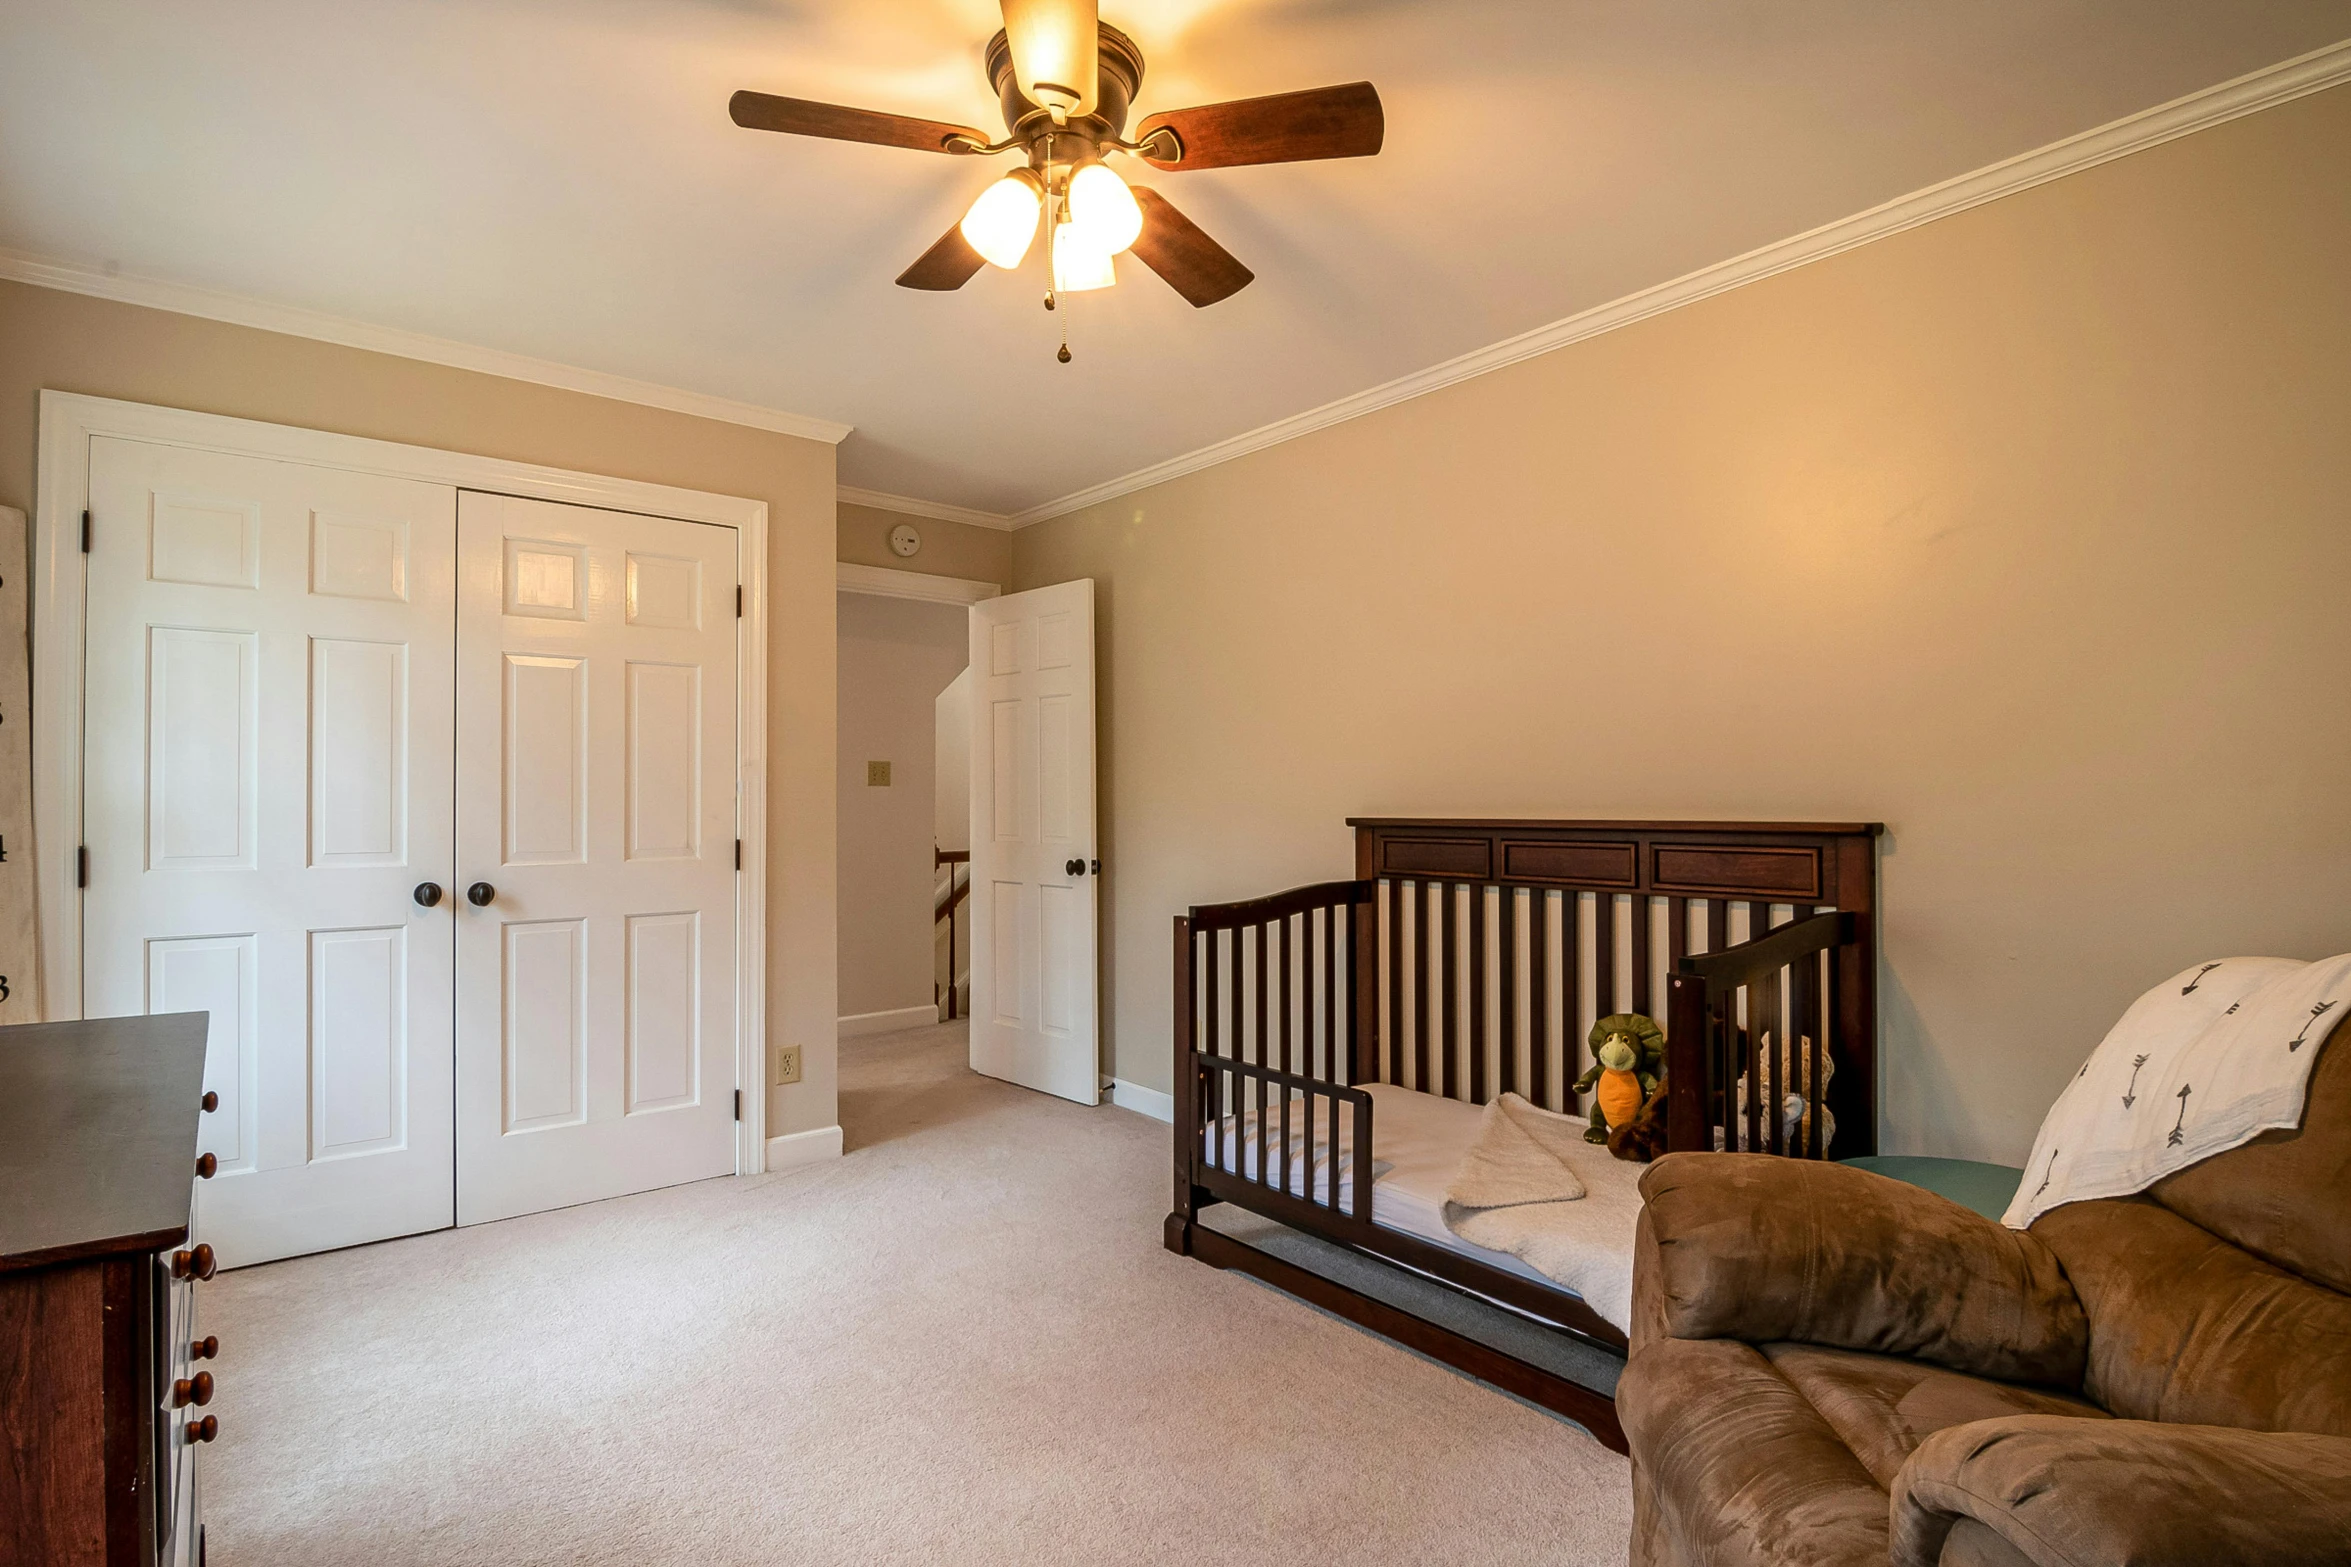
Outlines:
{"label": "puffy brown front section of recliner, below its left armrest", "polygon": [[1657,1339],[1617,1412],[1669,1555],[1690,1567],[1886,1567],[1890,1515],[1829,1421],[1747,1344]]}

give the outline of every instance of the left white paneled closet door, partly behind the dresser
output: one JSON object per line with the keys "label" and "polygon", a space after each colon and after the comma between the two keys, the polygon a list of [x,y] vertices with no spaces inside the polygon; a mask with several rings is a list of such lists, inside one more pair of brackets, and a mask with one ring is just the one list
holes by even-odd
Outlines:
{"label": "left white paneled closet door, partly behind the dresser", "polygon": [[223,1264],[451,1222],[456,491],[89,442],[82,1015],[212,1013]]}

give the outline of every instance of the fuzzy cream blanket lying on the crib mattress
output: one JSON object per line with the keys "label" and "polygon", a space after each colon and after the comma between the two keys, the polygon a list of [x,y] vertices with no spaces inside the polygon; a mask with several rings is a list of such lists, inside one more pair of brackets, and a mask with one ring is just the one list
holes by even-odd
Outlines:
{"label": "fuzzy cream blanket lying on the crib mattress", "polygon": [[1585,1125],[1519,1095],[1488,1104],[1446,1184],[1446,1229],[1488,1252],[1509,1252],[1632,1332],[1639,1165],[1585,1142]]}

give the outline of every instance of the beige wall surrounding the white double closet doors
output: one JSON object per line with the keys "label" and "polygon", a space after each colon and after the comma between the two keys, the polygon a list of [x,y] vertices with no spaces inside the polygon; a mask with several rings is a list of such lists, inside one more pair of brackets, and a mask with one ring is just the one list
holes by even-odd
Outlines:
{"label": "beige wall surrounding the white double closet doors", "polygon": [[42,388],[766,500],[769,1043],[806,1060],[769,1090],[769,1132],[837,1121],[832,446],[0,282],[0,505],[33,505]]}

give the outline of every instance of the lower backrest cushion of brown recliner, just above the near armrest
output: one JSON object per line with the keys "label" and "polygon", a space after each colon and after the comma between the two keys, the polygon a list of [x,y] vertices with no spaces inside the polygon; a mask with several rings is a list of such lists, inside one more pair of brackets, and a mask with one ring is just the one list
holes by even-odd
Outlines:
{"label": "lower backrest cushion of brown recliner, just above the near armrest", "polygon": [[2090,1316],[2083,1391],[2106,1410],[2351,1435],[2351,1294],[2273,1269],[2151,1198],[2052,1208],[2034,1233]]}

